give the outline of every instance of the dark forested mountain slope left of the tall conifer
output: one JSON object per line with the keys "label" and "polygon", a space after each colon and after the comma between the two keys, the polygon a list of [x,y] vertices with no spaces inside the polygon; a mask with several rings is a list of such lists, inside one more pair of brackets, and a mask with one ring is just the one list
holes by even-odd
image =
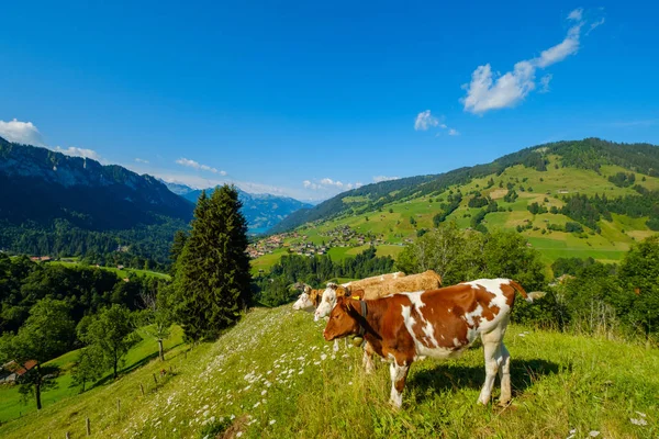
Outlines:
{"label": "dark forested mountain slope left of the tall conifer", "polygon": [[0,138],[0,249],[167,263],[193,204],[150,176]]}

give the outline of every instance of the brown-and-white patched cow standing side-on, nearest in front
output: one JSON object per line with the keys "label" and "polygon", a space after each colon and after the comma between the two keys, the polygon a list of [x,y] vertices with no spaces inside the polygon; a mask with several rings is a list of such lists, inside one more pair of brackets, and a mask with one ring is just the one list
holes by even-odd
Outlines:
{"label": "brown-and-white patched cow standing side-on, nearest in front", "polygon": [[375,352],[391,362],[391,404],[400,407],[410,365],[420,357],[455,358],[477,337],[483,341],[485,383],[478,402],[488,404],[494,376],[500,403],[511,399],[511,360],[503,336],[524,289],[510,279],[480,279],[434,291],[400,293],[376,300],[339,297],[323,333],[327,341],[362,335]]}

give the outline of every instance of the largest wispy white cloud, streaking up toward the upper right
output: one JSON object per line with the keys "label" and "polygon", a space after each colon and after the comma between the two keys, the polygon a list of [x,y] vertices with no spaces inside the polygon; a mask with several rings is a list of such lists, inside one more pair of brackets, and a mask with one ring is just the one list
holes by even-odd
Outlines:
{"label": "largest wispy white cloud, streaking up toward the upper right", "polygon": [[[578,23],[568,30],[561,43],[543,50],[538,57],[516,63],[512,71],[493,74],[490,64],[473,70],[471,82],[462,86],[467,90],[467,95],[460,100],[465,111],[482,114],[490,110],[512,108],[522,102],[536,88],[536,70],[562,61],[579,50],[581,27],[585,23],[581,21],[582,13],[582,9],[576,9],[568,15],[569,20]],[[550,79],[550,75],[540,79],[540,91],[548,90]]]}

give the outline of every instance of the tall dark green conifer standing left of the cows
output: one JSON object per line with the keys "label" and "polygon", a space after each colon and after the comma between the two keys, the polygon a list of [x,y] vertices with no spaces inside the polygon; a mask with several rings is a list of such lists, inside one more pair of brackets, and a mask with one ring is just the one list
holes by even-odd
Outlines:
{"label": "tall dark green conifer standing left of the cows", "polygon": [[192,230],[177,260],[177,311],[186,337],[214,338],[249,303],[252,275],[246,254],[247,221],[234,187],[199,198]]}

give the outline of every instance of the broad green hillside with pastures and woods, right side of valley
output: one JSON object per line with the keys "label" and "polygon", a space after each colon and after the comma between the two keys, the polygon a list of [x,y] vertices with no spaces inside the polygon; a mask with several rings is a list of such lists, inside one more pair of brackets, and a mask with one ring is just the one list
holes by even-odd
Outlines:
{"label": "broad green hillside with pastures and woods, right side of valley", "polygon": [[[395,258],[405,241],[434,227],[434,218],[440,215],[442,221],[455,221],[461,228],[516,229],[550,264],[560,257],[592,257],[616,262],[633,243],[656,233],[648,221],[659,215],[659,173],[656,171],[659,148],[595,139],[552,145],[528,148],[490,165],[451,171],[431,182],[429,177],[421,182],[421,178],[403,179],[398,183],[387,182],[389,187],[383,190],[379,184],[371,184],[346,192],[323,203],[333,206],[333,213],[298,226],[299,236],[288,233],[284,243],[293,248],[301,243],[322,245],[328,241],[332,230],[348,226],[365,239],[354,238],[343,243],[346,247],[331,248],[328,255],[333,258],[356,255],[369,243],[378,247],[379,255]],[[612,156],[612,150],[619,157]],[[636,156],[645,157],[647,162],[636,161]],[[655,165],[657,168],[651,167]],[[617,179],[621,173],[633,173],[635,180],[621,182]],[[450,181],[457,182],[445,184]],[[393,190],[383,193],[389,189]],[[506,195],[513,191],[515,195],[511,200]],[[461,195],[459,204],[450,206],[451,198],[457,194]],[[605,196],[608,204],[602,210],[610,215],[589,222],[561,213],[566,200],[576,195],[585,195],[591,204],[595,203],[595,195],[597,200]],[[496,212],[487,212],[488,206],[474,203],[474,198],[495,202]],[[625,204],[619,209],[627,210],[616,213],[613,200],[618,198],[626,198],[632,207]],[[470,202],[479,206],[470,207]],[[529,211],[533,203],[537,203],[540,212]],[[316,207],[319,212],[324,209],[323,204]],[[558,212],[551,213],[552,207]],[[474,225],[481,210],[485,210],[484,217],[480,225]],[[541,213],[545,210],[547,212]],[[572,213],[572,216],[577,215]],[[294,224],[291,219],[288,223]],[[583,232],[557,229],[565,228],[566,223],[580,223]],[[264,262],[256,259],[255,264],[267,268],[266,260],[271,264],[275,258],[266,255]]]}

